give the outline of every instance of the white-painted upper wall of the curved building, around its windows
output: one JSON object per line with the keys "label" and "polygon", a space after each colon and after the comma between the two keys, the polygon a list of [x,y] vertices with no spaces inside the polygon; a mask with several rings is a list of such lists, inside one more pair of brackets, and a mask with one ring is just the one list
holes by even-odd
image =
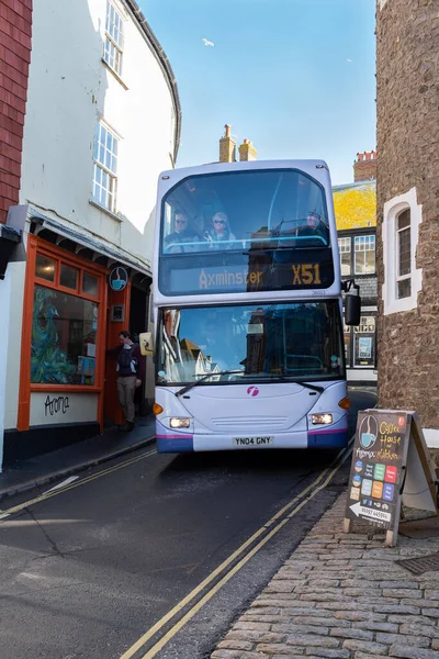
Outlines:
{"label": "white-painted upper wall of the curved building, around its windows", "polygon": [[[121,85],[105,67],[106,0],[44,0],[33,12],[21,203],[151,261],[157,178],[171,167],[173,103],[164,71],[122,2]],[[121,136],[116,210],[90,204],[98,118]]]}

